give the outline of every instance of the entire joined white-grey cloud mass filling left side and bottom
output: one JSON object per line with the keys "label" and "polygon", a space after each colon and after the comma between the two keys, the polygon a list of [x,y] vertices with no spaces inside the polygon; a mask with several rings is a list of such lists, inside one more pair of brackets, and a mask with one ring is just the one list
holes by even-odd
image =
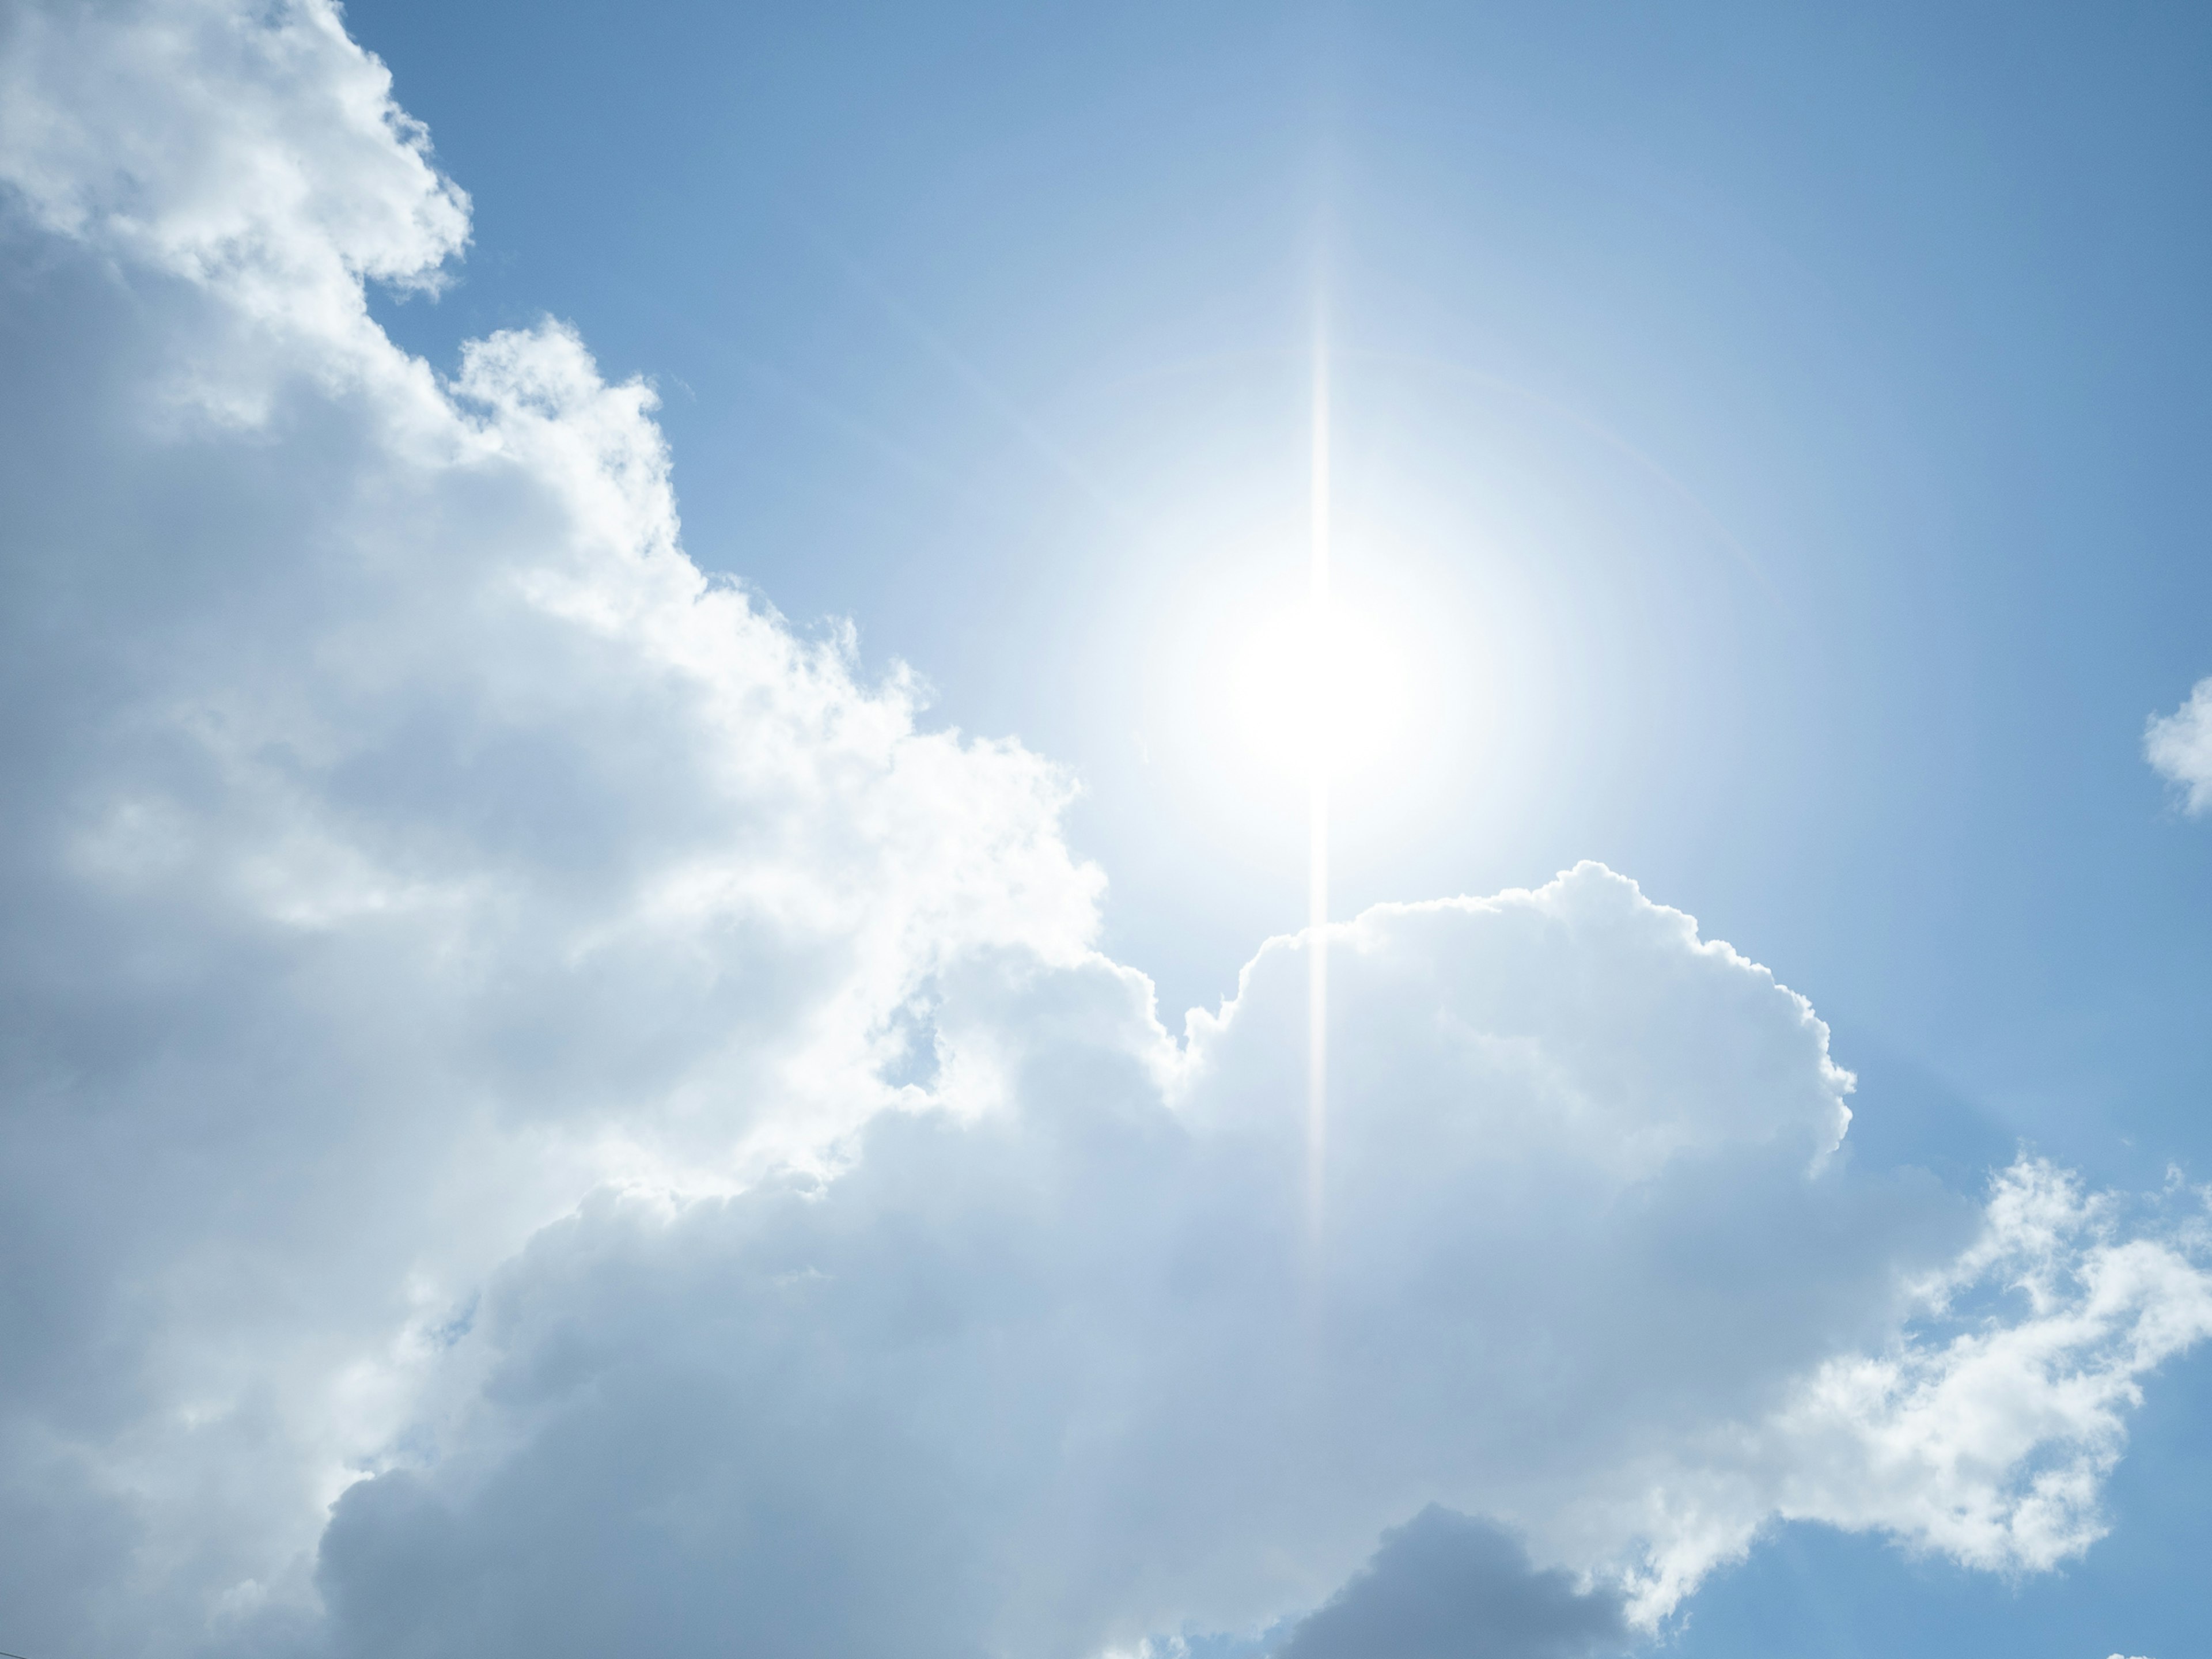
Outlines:
{"label": "entire joined white-grey cloud mass filling left side and bottom", "polygon": [[1597,865],[1170,1033],[1071,781],[708,580],[646,385],[376,327],[467,197],[334,7],[4,31],[7,1646],[1584,1655],[1778,1517],[2099,1535],[2188,1194],[1854,1175]]}

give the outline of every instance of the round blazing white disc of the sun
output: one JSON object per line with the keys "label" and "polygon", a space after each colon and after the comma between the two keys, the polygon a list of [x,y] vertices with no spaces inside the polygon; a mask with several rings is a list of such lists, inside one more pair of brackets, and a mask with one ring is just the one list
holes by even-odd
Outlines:
{"label": "round blazing white disc of the sun", "polygon": [[1230,675],[1237,730],[1270,765],[1356,776],[1398,745],[1407,655],[1371,617],[1301,604],[1245,639]]}

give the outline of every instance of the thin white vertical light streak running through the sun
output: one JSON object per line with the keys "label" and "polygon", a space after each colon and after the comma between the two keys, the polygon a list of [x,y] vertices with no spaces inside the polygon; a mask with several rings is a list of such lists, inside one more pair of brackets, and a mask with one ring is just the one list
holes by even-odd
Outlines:
{"label": "thin white vertical light streak running through the sun", "polygon": [[1314,703],[1307,732],[1305,799],[1305,1223],[1321,1237],[1323,1172],[1329,1150],[1329,752],[1336,723],[1336,630],[1329,626],[1329,345],[1314,336],[1312,571],[1307,644],[1314,653]]}

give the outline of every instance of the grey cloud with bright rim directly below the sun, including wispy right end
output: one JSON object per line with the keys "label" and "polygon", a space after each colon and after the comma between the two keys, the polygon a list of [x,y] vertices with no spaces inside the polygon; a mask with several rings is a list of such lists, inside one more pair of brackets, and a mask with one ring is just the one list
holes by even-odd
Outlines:
{"label": "grey cloud with bright rim directly below the sun, including wispy right end", "polygon": [[1429,1520],[1294,1641],[1493,1597],[1546,1652],[1661,1619],[1774,1515],[2002,1568],[2095,1540],[2135,1380],[2212,1329],[2181,1245],[2035,1164],[1980,1210],[1847,1177],[1818,1020],[1595,865],[1334,929],[1314,1228],[1312,945],[1181,1051],[1124,969],[975,964],[936,1044],[980,1110],[544,1230],[438,1455],[341,1500],[341,1630],[1095,1652],[1265,1628],[1447,1504],[1595,1588],[1495,1544],[1447,1571]]}

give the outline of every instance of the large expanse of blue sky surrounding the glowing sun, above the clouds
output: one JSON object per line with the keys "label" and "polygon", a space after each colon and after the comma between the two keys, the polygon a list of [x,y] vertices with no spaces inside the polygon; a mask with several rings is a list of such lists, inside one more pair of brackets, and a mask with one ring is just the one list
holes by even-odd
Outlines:
{"label": "large expanse of blue sky surrounding the glowing sun, above the clouds", "polygon": [[2137,752],[2203,668],[2194,20],[349,18],[478,199],[398,336],[551,310],[653,376],[695,555],[1077,765],[1170,1002],[1298,916],[1298,836],[1130,730],[1303,511],[1325,270],[1347,513],[1551,657],[1544,754],[1425,752],[1352,896],[1604,856],[2000,1137],[2199,1150],[2205,858]]}

